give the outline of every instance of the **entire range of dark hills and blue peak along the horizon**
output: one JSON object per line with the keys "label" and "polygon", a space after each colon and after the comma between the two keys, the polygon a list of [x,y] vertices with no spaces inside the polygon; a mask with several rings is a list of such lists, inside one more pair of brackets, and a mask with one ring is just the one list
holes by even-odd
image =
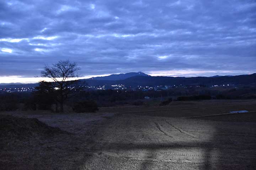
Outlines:
{"label": "entire range of dark hills and blue peak along the horizon", "polygon": [[[135,76],[132,76],[135,75]],[[142,76],[143,75],[143,76]],[[129,77],[126,78],[125,77]],[[164,77],[164,76],[150,76],[142,72],[126,73],[126,74],[112,74],[105,77],[96,77],[91,79],[81,79],[81,82],[86,82],[90,86],[103,86],[107,88],[111,85],[123,84],[127,87],[136,86],[156,86],[156,85],[255,85],[256,73],[250,75],[236,75],[236,76],[218,76],[218,77]],[[17,87],[35,87],[35,84],[0,84],[0,88],[17,88]]]}

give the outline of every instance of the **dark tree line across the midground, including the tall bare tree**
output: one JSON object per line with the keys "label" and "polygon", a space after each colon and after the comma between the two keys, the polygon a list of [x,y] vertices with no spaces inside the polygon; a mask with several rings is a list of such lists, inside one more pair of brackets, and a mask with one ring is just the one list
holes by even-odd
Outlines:
{"label": "dark tree line across the midground, including the tall bare tree", "polygon": [[[142,90],[90,90],[84,81],[79,81],[79,67],[69,60],[59,61],[51,66],[45,66],[42,77],[52,81],[41,81],[35,90],[29,93],[0,94],[0,111],[14,111],[22,105],[23,110],[52,110],[64,112],[64,106],[75,112],[95,112],[98,106],[108,107],[117,105],[147,105],[153,100],[155,104],[166,105],[177,101],[215,99],[256,98],[256,88],[244,87],[218,91],[204,87],[172,88],[161,91]],[[144,97],[149,97],[150,100]]]}

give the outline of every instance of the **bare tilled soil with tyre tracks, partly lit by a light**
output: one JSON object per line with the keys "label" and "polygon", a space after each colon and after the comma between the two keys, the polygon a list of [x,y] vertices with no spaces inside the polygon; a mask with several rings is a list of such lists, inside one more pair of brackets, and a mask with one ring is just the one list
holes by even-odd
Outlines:
{"label": "bare tilled soil with tyre tracks, partly lit by a light", "polygon": [[255,169],[255,125],[120,115],[79,169]]}

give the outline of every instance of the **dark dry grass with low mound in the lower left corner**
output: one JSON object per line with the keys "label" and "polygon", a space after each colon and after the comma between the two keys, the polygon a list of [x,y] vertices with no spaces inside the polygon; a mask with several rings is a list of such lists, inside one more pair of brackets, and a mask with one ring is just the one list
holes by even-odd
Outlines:
{"label": "dark dry grass with low mound in the lower left corner", "polygon": [[0,117],[0,169],[72,169],[84,142],[35,118]]}

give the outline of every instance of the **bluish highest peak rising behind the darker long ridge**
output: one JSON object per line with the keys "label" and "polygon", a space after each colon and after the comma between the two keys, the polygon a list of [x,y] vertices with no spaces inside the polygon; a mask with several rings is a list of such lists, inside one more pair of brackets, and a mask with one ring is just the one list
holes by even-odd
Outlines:
{"label": "bluish highest peak rising behind the darker long ridge", "polygon": [[126,73],[126,74],[111,74],[108,76],[104,76],[104,77],[92,77],[88,80],[124,80],[130,77],[134,77],[134,76],[148,76],[151,77],[151,75],[145,74],[143,72],[131,72],[131,73]]}

